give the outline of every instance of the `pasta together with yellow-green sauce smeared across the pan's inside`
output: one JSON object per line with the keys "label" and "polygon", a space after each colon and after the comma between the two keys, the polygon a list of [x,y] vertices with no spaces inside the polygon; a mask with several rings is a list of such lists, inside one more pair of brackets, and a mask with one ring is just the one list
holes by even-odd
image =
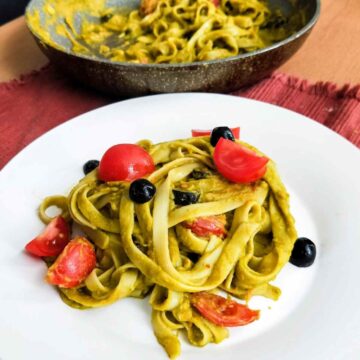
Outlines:
{"label": "pasta together with yellow-green sauce smeared across the pan's inside", "polygon": [[57,49],[141,64],[228,58],[281,41],[305,23],[303,11],[285,16],[267,0],[142,0],[135,10],[105,0],[44,0],[27,21]]}

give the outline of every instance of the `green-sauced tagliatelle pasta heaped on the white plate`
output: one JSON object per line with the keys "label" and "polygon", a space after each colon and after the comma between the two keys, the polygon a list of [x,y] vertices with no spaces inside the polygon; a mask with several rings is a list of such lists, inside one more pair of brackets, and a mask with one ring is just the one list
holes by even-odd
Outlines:
{"label": "green-sauced tagliatelle pasta heaped on the white plate", "polygon": [[[58,287],[62,299],[82,309],[149,294],[154,334],[174,359],[181,331],[195,346],[228,337],[226,327],[192,306],[194,294],[224,291],[246,301],[280,296],[271,281],[289,261],[297,234],[271,160],[259,180],[234,183],[217,171],[208,136],[138,144],[156,166],[146,176],[156,187],[150,201],[135,203],[129,182],[101,181],[95,169],[67,197],[44,199],[39,215],[49,223],[46,210],[57,206],[95,247],[95,268],[79,286]],[[197,199],[178,205],[174,191]],[[199,235],[192,224],[204,218],[217,219],[224,231]]]}

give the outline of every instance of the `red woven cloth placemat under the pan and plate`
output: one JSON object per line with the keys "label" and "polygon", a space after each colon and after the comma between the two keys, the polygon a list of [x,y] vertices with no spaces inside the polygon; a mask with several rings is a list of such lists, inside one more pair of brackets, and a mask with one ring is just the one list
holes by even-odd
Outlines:
{"label": "red woven cloth placemat under the pan and plate", "polygon": [[[233,93],[306,115],[360,147],[360,85],[309,84],[285,74]],[[117,99],[85,89],[52,66],[0,84],[0,169],[27,144],[76,115]]]}

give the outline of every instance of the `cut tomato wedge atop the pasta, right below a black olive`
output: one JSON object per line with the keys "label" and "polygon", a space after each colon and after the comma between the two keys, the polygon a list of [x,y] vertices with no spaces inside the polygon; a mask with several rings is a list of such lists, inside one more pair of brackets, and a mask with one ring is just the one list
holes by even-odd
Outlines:
{"label": "cut tomato wedge atop the pasta, right below a black olive", "polygon": [[243,145],[220,138],[214,150],[214,162],[219,173],[226,179],[249,183],[260,179],[269,161]]}

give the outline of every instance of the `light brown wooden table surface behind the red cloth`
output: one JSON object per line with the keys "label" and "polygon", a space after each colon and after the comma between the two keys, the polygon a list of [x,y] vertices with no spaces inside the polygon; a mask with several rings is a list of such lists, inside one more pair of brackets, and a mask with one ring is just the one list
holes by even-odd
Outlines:
{"label": "light brown wooden table surface behind the red cloth", "polygon": [[[279,70],[312,82],[360,83],[359,19],[360,0],[322,0],[320,19],[310,37]],[[23,17],[0,26],[0,82],[46,63]]]}

